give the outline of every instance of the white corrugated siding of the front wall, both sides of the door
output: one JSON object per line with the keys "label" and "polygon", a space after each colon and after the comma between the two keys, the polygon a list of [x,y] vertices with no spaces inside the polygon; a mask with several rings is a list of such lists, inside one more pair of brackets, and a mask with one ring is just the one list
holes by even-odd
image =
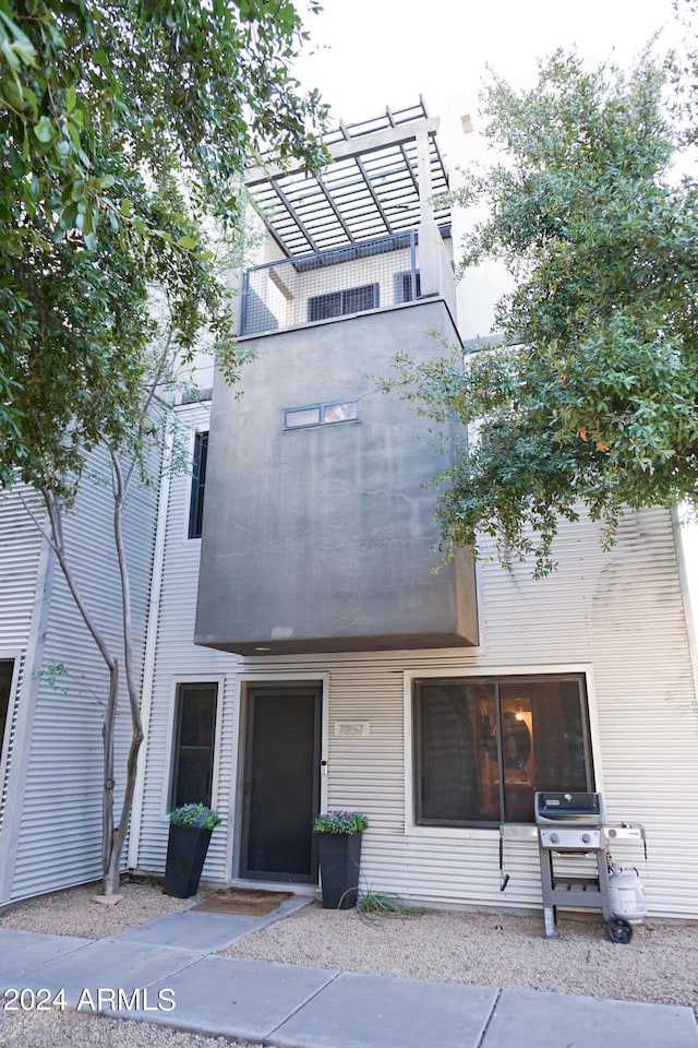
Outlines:
{"label": "white corrugated siding of the front wall, both sides of the door", "polygon": [[[190,418],[205,428],[202,407],[192,409]],[[238,660],[192,644],[198,543],[185,538],[188,511],[189,479],[177,477],[168,508],[141,868],[161,870],[165,862],[173,682],[226,675],[214,798],[225,824],[214,834],[204,871],[220,880],[236,873],[238,677],[273,681],[293,674],[327,675],[327,802],[370,817],[362,858],[365,885],[440,904],[539,906],[533,841],[506,841],[510,880],[502,893],[496,832],[406,829],[411,787],[406,798],[404,675],[534,674],[574,666],[589,671],[599,728],[594,757],[609,818],[647,826],[647,866],[635,846],[617,849],[618,858],[639,867],[652,914],[698,917],[698,713],[667,512],[628,515],[609,552],[600,549],[593,523],[563,525],[556,545],[559,567],[545,580],[533,581],[524,565],[505,572],[482,564],[477,650]],[[369,722],[370,735],[336,737],[334,725],[341,720]]]}

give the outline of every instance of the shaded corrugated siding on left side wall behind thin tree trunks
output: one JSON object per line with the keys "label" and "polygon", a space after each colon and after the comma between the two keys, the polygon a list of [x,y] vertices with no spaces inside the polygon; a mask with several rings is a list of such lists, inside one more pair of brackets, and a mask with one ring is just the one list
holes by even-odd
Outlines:
{"label": "shaded corrugated siding on left side wall behind thin tree trunks", "polygon": [[[120,588],[111,531],[113,503],[109,484],[98,479],[106,473],[105,457],[95,453],[75,509],[67,517],[65,544],[83,599],[120,656]],[[143,654],[156,497],[156,488],[134,488],[124,516],[136,668]],[[35,681],[12,898],[101,876],[101,723],[108,677],[58,569],[36,669],[51,663],[62,663],[67,674],[59,675],[55,683],[44,678]],[[123,683],[122,680],[117,717],[117,819],[130,737]]]}

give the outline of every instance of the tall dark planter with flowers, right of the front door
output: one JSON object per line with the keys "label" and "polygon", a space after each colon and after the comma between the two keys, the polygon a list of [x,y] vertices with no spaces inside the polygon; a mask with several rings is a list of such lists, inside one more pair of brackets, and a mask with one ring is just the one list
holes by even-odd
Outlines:
{"label": "tall dark planter with flowers, right of the front door", "polygon": [[361,834],[368,825],[361,811],[328,811],[315,819],[324,909],[357,905]]}

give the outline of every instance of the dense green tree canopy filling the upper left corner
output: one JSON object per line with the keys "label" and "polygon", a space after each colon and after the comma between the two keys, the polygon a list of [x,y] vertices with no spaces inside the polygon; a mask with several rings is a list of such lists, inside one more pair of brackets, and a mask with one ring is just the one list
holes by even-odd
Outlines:
{"label": "dense green tree canopy filling the upper left corner", "polygon": [[154,285],[234,374],[203,221],[232,235],[262,154],[322,159],[303,38],[291,0],[0,0],[0,486],[68,489],[137,425]]}

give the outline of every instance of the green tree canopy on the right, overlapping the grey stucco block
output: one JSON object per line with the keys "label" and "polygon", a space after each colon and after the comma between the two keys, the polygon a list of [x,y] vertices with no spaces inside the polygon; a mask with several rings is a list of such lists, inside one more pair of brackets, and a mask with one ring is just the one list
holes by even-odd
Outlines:
{"label": "green tree canopy on the right, overlapping the grey stucco block", "polygon": [[[503,262],[501,343],[399,384],[435,418],[470,427],[440,478],[448,546],[493,536],[503,562],[552,568],[558,521],[579,503],[612,541],[625,508],[698,507],[698,196],[677,160],[671,59],[589,71],[575,53],[483,96],[496,162],[455,194],[486,204],[464,266]],[[674,98],[674,103],[676,99]]]}

